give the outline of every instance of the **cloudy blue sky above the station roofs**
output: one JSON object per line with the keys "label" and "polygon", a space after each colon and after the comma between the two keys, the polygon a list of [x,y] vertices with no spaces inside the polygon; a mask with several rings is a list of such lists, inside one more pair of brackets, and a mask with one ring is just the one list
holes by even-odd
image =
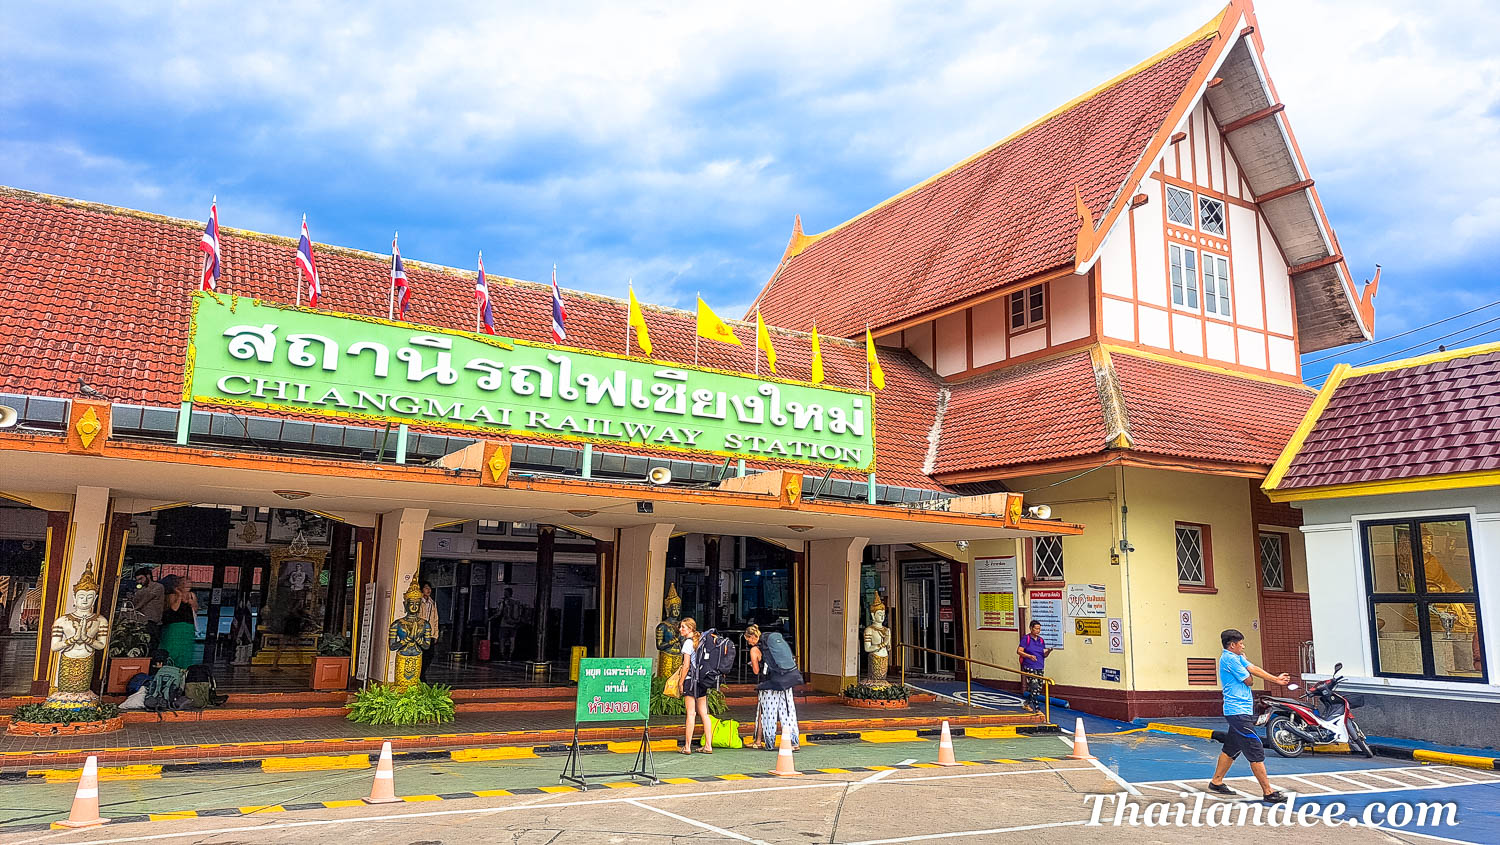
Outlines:
{"label": "cloudy blue sky above the station roofs", "polygon": [[[940,14],[938,12],[940,9]],[[0,183],[738,315],[832,227],[1215,3],[15,3]],[[1262,0],[1377,336],[1500,299],[1492,5]],[[336,284],[330,281],[328,284]],[[1430,351],[1437,335],[1310,363]],[[1497,333],[1484,333],[1494,329]],[[1500,321],[1448,342],[1500,338]],[[1308,356],[1311,359],[1323,356]]]}

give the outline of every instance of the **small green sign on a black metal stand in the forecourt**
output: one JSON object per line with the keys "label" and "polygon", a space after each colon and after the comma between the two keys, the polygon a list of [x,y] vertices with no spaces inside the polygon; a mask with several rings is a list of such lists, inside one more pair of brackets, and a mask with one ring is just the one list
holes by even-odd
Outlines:
{"label": "small green sign on a black metal stand in the forecourt", "polygon": [[[582,722],[640,722],[640,749],[628,771],[579,768],[578,726]],[[578,704],[573,711],[573,747],[558,780],[588,788],[590,777],[642,777],[657,783],[651,762],[651,657],[584,657],[578,666]]]}

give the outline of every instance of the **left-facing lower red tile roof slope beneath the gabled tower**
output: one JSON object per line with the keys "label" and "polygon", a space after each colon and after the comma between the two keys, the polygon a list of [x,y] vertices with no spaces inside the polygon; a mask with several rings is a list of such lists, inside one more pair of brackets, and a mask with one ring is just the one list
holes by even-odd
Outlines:
{"label": "left-facing lower red tile roof slope beneath the gabled tower", "polygon": [[933,473],[1076,458],[1104,450],[1089,350],[952,386]]}

